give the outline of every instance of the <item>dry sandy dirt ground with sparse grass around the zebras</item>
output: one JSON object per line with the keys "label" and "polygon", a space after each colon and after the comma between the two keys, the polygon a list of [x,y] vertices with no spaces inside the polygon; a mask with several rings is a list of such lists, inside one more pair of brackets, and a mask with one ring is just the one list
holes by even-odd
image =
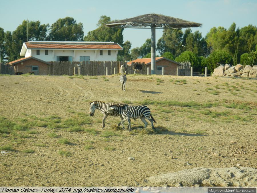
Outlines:
{"label": "dry sandy dirt ground with sparse grass around the zebras", "polygon": [[[77,132],[31,124],[0,133],[1,186],[143,186],[150,176],[196,167],[256,168],[256,79],[128,75],[124,92],[117,75],[83,78],[0,76],[0,120],[65,122],[85,113],[90,122]],[[94,100],[148,102],[158,132],[142,132],[140,119],[132,132],[115,130],[118,117],[103,130],[100,111],[89,116]]]}

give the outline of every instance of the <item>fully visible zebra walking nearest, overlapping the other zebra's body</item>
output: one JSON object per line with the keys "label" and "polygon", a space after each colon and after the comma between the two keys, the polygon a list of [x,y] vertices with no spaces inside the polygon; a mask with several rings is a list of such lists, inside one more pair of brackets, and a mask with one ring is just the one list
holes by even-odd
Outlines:
{"label": "fully visible zebra walking nearest, overlapping the other zebra's body", "polygon": [[150,109],[145,105],[127,105],[127,104],[115,104],[111,105],[107,110],[105,110],[104,114],[111,115],[117,113],[123,117],[121,121],[121,125],[124,128],[124,121],[128,121],[128,128],[131,131],[130,118],[138,119],[140,118],[144,123],[144,128],[148,125],[145,119],[148,119],[152,124],[152,129],[154,129],[153,121],[156,123],[154,118],[151,115]]}

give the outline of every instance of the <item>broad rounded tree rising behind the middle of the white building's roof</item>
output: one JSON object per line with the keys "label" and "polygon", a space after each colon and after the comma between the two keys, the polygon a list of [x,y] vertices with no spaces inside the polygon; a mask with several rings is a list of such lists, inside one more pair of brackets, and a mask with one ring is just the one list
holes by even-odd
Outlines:
{"label": "broad rounded tree rising behind the middle of the white building's roof", "polygon": [[50,33],[47,37],[50,41],[83,41],[83,24],[73,17],[58,19],[50,27]]}

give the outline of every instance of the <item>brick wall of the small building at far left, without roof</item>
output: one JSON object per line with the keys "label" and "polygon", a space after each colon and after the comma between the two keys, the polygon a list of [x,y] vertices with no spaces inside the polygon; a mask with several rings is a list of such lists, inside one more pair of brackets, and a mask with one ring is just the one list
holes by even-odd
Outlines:
{"label": "brick wall of the small building at far left, without roof", "polygon": [[39,75],[47,75],[48,74],[48,64],[37,61],[35,59],[28,59],[19,62],[14,65],[14,71],[15,72],[22,72],[23,74],[27,74],[32,71],[32,66],[38,66],[38,74]]}

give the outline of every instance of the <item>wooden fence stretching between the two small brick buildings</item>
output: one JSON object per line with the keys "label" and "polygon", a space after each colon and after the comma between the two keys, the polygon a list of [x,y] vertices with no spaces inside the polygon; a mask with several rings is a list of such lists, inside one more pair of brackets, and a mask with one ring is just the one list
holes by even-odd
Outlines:
{"label": "wooden fence stretching between the two small brick buildings", "polygon": [[[74,67],[75,74],[79,74],[78,67],[80,67],[81,75],[106,75],[106,68],[108,68],[108,75],[120,72],[120,66],[125,65],[127,67],[127,73],[133,74],[133,63],[128,66],[127,62],[120,61],[83,61],[83,62],[55,62],[52,61],[48,65],[48,74],[49,75],[73,75]],[[139,71],[140,74],[147,74],[147,67],[142,63],[142,70]]]}

